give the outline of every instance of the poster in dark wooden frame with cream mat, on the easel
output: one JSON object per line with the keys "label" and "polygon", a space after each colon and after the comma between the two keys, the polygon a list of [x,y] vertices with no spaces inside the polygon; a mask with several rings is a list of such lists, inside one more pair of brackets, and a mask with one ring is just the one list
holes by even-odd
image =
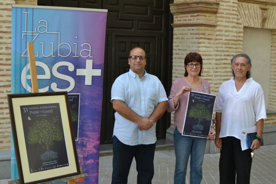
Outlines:
{"label": "poster in dark wooden frame with cream mat, on the easel", "polygon": [[67,92],[7,96],[20,183],[80,174]]}

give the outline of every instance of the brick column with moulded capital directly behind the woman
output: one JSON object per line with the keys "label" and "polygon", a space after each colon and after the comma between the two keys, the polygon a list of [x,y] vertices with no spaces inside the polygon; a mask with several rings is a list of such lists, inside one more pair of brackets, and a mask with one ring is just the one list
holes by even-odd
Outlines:
{"label": "brick column with moulded capital directly behind the woman", "polygon": [[[214,74],[215,31],[219,3],[210,1],[176,1],[171,4],[173,14],[173,76],[184,76],[184,58],[198,52],[203,59],[202,78],[212,86]],[[171,124],[173,124],[171,114]]]}

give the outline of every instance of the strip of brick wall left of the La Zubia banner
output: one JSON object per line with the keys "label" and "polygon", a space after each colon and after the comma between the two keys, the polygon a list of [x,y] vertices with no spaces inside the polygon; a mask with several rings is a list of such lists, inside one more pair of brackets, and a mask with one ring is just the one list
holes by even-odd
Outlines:
{"label": "strip of brick wall left of the La Zubia banner", "polygon": [[0,2],[0,151],[10,150],[10,93],[12,4],[37,5],[37,0],[1,0]]}

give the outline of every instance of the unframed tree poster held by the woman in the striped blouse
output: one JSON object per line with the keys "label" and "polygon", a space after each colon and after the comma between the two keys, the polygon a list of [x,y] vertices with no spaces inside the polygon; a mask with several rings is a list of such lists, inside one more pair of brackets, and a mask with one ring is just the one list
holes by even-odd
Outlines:
{"label": "unframed tree poster held by the woman in the striped blouse", "polygon": [[216,95],[190,91],[182,135],[207,137],[212,125]]}

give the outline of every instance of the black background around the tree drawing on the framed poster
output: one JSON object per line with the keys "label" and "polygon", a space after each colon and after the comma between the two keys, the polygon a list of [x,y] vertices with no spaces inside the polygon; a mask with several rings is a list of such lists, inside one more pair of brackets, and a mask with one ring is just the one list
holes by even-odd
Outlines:
{"label": "black background around the tree drawing on the framed poster", "polygon": [[[20,111],[30,173],[69,166],[59,103],[20,106]],[[35,122],[41,122],[42,120],[53,122],[54,125],[62,130],[60,136],[63,136],[63,140],[53,140],[53,145],[49,146],[49,150],[56,152],[58,158],[43,161],[41,156],[47,151],[46,144],[44,142],[41,144],[28,143],[27,136],[30,128]],[[45,127],[43,128],[40,126],[38,129],[42,131]],[[51,129],[51,127],[49,127],[49,129]],[[51,132],[49,132],[49,134],[51,134]]]}

